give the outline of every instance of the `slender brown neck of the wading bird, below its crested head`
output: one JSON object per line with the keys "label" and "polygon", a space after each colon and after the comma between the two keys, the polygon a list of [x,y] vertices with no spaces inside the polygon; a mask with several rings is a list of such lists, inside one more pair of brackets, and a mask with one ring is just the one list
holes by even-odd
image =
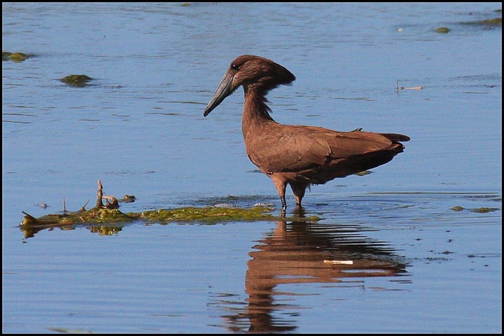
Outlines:
{"label": "slender brown neck of the wading bird, below its crested head", "polygon": [[270,116],[270,108],[266,105],[265,94],[261,90],[247,89],[245,91],[245,104],[241,118],[241,130],[246,141],[247,134],[253,134],[267,124],[276,123]]}

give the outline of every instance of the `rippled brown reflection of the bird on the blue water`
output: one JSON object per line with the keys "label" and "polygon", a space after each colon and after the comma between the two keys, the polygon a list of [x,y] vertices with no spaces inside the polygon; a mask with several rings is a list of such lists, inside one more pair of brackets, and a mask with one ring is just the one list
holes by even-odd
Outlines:
{"label": "rippled brown reflection of the bird on the blue water", "polygon": [[[294,330],[286,318],[298,308],[276,295],[296,295],[275,290],[282,284],[339,283],[344,278],[391,277],[406,273],[404,258],[393,248],[359,233],[359,227],[279,221],[248,255],[245,275],[246,308],[223,316],[233,331],[278,332]],[[351,261],[328,264],[324,260]],[[281,317],[278,317],[281,316]]]}

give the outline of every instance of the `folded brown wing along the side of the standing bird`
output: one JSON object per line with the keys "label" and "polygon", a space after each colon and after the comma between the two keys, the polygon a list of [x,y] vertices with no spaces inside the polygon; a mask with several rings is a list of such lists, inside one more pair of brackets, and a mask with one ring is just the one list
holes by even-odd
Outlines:
{"label": "folded brown wing along the side of the standing bird", "polygon": [[392,141],[379,133],[338,132],[314,126],[280,125],[258,136],[247,148],[250,159],[269,172],[292,172],[335,158],[386,149]]}

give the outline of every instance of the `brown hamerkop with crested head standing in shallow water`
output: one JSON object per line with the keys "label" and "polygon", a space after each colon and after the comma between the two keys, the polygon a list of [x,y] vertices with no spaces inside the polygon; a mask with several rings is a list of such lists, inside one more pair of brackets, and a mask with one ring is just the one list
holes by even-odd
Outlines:
{"label": "brown hamerkop with crested head standing in shallow water", "polygon": [[277,188],[285,213],[285,188],[292,188],[301,205],[306,187],[363,172],[389,162],[403,151],[402,134],[338,132],[315,126],[283,125],[271,118],[266,94],[296,77],[269,59],[242,55],[231,62],[217,91],[205,108],[207,116],[224,98],[243,86],[241,120],[248,158]]}

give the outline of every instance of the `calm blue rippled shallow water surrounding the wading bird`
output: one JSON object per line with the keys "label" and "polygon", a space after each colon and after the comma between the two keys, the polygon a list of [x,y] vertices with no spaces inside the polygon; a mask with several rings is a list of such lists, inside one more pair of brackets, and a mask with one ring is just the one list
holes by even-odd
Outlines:
{"label": "calm blue rippled shallow water surrounding the wading bird", "polygon": [[[4,3],[3,51],[36,57],[2,62],[3,331],[500,332],[501,28],[464,24],[500,6]],[[123,212],[278,214],[241,89],[203,117],[241,54],[296,75],[268,96],[278,122],[403,133],[405,152],[312,187],[304,213],[288,195],[317,222],[25,237],[21,211],[78,210],[97,179],[137,197]]]}

